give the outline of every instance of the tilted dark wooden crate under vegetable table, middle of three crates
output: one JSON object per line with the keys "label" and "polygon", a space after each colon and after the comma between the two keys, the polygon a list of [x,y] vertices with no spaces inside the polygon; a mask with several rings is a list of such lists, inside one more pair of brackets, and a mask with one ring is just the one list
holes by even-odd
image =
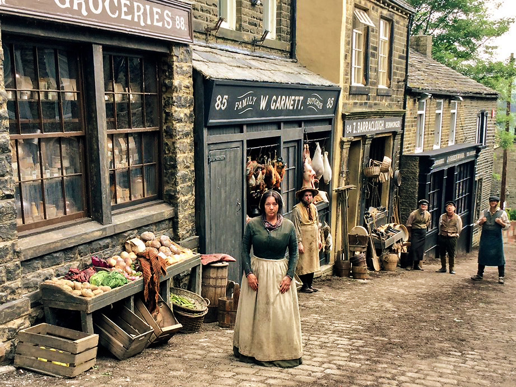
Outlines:
{"label": "tilted dark wooden crate under vegetable table, middle of three crates", "polygon": [[119,360],[140,353],[154,330],[130,309],[122,305],[108,312],[93,316],[94,329],[99,333],[99,342]]}

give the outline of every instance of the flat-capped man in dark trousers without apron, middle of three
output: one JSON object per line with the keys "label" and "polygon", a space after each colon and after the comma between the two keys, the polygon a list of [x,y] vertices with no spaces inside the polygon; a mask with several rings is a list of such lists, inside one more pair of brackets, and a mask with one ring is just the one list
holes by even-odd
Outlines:
{"label": "flat-capped man in dark trousers without apron, middle of three", "polygon": [[446,253],[448,253],[448,265],[450,274],[455,274],[455,248],[457,239],[462,231],[462,219],[455,213],[455,202],[448,200],[444,203],[446,212],[439,218],[439,235],[437,245],[441,268],[438,273],[446,272]]}

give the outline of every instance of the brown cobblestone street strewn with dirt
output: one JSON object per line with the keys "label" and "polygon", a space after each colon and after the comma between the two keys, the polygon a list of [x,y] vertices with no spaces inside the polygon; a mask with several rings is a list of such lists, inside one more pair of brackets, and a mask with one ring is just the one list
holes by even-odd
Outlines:
{"label": "brown cobblestone street strewn with dirt", "polygon": [[233,332],[205,324],[125,361],[101,351],[95,368],[72,380],[11,371],[0,386],[513,386],[514,246],[506,243],[505,285],[495,267],[470,280],[476,251],[459,256],[456,276],[436,273],[433,261],[366,281],[319,279],[320,292],[299,297],[304,353],[296,368],[240,363]]}

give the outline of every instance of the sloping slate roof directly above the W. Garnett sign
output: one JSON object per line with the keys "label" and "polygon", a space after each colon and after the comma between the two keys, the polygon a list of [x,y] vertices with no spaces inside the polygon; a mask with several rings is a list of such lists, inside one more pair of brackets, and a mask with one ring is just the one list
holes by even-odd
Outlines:
{"label": "sloping slate roof directly above the W. Garnett sign", "polygon": [[196,44],[192,45],[192,64],[206,78],[338,86],[293,60],[264,58]]}

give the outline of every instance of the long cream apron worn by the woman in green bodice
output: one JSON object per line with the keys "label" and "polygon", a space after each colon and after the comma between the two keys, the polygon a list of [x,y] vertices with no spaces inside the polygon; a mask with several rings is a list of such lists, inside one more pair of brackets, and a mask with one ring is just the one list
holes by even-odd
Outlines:
{"label": "long cream apron worn by the woman in green bodice", "polygon": [[[293,283],[281,294],[280,284],[288,269],[288,261],[265,260],[253,256],[251,269],[258,279],[255,292],[242,278],[240,299],[233,333],[234,350],[259,361],[301,358],[301,319],[297,289]],[[279,366],[294,366],[301,362]]]}

